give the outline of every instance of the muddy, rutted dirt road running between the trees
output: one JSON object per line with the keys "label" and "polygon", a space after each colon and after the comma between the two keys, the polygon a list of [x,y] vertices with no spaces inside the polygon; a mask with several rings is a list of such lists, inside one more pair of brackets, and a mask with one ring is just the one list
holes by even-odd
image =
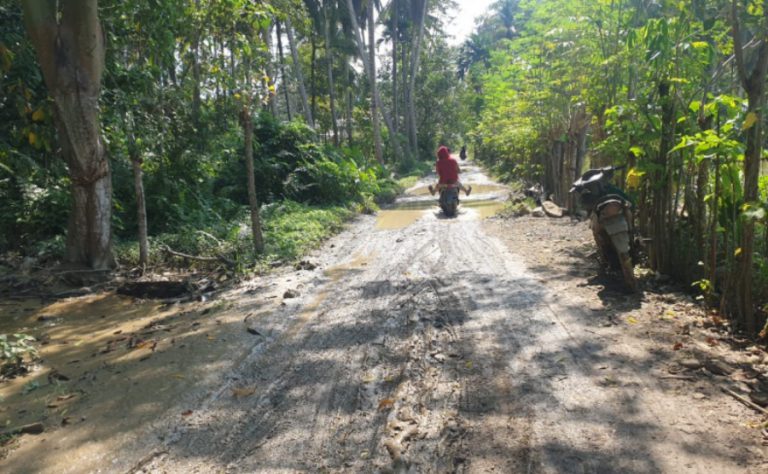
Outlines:
{"label": "muddy, rutted dirt road running between the trees", "polygon": [[528,268],[535,245],[481,219],[506,191],[466,168],[458,218],[423,182],[284,276],[299,296],[248,320],[257,342],[134,470],[765,472],[754,413],[681,392],[650,337]]}

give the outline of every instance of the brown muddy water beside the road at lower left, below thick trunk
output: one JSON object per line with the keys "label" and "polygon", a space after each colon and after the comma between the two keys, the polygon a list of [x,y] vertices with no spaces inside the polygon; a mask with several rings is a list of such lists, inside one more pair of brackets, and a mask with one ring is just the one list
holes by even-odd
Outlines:
{"label": "brown muddy water beside the road at lower left, below thick trunk", "polygon": [[167,306],[114,293],[0,301],[0,333],[30,334],[39,350],[31,373],[0,382],[0,426],[45,427],[20,437],[0,471],[105,468],[133,430],[221,364],[232,347],[224,334],[243,317],[225,310],[220,301]]}

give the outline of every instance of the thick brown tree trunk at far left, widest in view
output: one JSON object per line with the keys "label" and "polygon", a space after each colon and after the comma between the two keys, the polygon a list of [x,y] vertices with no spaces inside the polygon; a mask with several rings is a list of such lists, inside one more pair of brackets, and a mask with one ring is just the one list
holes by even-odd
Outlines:
{"label": "thick brown tree trunk at far left, widest in view", "polygon": [[53,97],[62,155],[72,181],[67,261],[95,270],[115,266],[112,182],[99,123],[104,35],[96,0],[22,2],[27,32]]}

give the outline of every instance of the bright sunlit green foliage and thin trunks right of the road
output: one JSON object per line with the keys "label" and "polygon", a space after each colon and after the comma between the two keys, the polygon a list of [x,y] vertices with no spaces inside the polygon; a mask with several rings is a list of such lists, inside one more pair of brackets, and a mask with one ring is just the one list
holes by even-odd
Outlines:
{"label": "bright sunlit green foliage and thin trunks right of the road", "polygon": [[584,169],[626,166],[652,269],[706,281],[712,303],[756,332],[768,304],[765,2],[493,9],[459,61],[477,155],[571,209]]}

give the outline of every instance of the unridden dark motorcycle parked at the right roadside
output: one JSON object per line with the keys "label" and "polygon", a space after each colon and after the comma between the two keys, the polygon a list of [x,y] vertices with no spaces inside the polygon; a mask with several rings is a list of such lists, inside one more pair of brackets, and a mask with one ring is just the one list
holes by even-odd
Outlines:
{"label": "unridden dark motorcycle parked at the right roadside", "polygon": [[573,183],[571,193],[577,193],[587,210],[590,228],[603,260],[615,271],[621,271],[624,284],[632,292],[637,291],[632,255],[632,203],[610,184],[615,171],[622,167],[586,171]]}

